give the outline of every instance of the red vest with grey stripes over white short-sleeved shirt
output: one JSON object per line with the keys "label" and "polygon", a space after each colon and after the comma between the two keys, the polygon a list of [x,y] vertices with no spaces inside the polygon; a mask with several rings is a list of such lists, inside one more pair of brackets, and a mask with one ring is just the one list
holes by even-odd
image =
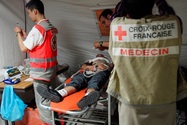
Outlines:
{"label": "red vest with grey stripes over white short-sleeved shirt", "polygon": [[57,29],[47,20],[39,21],[30,31],[24,45],[30,50],[30,76],[50,81],[56,76]]}

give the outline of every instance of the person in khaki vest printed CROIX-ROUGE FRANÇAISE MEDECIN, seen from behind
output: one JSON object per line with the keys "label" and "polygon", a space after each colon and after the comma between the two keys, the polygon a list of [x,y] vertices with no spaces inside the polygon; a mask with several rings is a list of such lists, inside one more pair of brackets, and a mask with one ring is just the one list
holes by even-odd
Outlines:
{"label": "person in khaki vest printed CROIX-ROUGE FRAN\u00c7AISE MEDECIN, seen from behind", "polygon": [[111,22],[109,54],[114,68],[107,93],[118,99],[120,125],[176,124],[182,25],[165,0],[156,1],[161,15],[152,14],[154,4],[122,0],[124,17]]}

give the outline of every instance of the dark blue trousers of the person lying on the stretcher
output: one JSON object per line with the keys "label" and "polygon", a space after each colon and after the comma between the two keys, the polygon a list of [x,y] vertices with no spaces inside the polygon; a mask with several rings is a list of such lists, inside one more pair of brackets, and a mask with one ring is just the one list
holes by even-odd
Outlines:
{"label": "dark blue trousers of the person lying on the stretcher", "polygon": [[110,76],[109,70],[100,71],[92,77],[85,77],[84,74],[80,73],[72,78],[72,81],[67,86],[73,86],[77,91],[83,88],[93,88],[99,91],[102,86],[107,82]]}

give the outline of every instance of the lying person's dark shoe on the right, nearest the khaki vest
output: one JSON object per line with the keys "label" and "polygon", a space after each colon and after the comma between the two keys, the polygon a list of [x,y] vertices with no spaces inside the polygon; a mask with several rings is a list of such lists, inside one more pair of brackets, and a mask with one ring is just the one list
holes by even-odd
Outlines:
{"label": "lying person's dark shoe on the right, nearest the khaki vest", "polygon": [[80,109],[84,109],[87,106],[91,106],[96,103],[100,97],[99,91],[90,92],[88,95],[84,96],[78,103],[77,106]]}

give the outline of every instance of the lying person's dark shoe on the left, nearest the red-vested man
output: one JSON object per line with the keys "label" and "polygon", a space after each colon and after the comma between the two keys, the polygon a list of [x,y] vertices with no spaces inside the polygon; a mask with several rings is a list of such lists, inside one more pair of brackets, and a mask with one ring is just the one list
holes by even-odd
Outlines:
{"label": "lying person's dark shoe on the left, nearest the red-vested man", "polygon": [[43,98],[49,99],[52,102],[61,102],[62,101],[62,96],[56,90],[50,89],[45,84],[39,84],[37,86],[36,90]]}

